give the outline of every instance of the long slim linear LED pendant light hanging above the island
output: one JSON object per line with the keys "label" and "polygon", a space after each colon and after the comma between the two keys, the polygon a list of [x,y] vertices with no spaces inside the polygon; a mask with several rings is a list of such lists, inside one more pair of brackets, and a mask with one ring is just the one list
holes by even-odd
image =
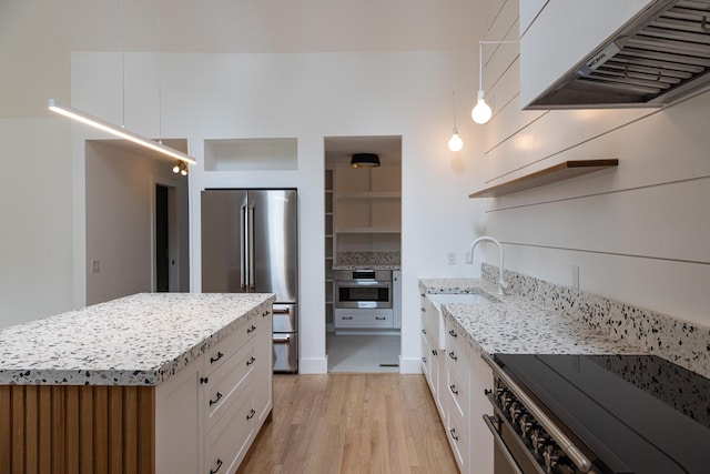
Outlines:
{"label": "long slim linear LED pendant light hanging above the island", "polygon": [[[121,125],[116,125],[113,124],[111,122],[108,122],[105,120],[99,119],[98,117],[93,117],[84,111],[81,111],[77,108],[73,108],[71,105],[63,105],[60,104],[57,100],[54,99],[50,99],[49,100],[49,110],[51,110],[54,113],[59,113],[60,115],[64,115],[69,119],[75,120],[80,123],[87,124],[89,127],[93,127],[94,129],[104,131],[106,133],[110,133],[114,137],[118,137],[120,139],[123,140],[129,140],[133,143],[136,143],[141,147],[151,149],[153,151],[156,151],[159,153],[162,153],[166,157],[171,157],[174,159],[178,159],[179,161],[185,162],[185,163],[190,163],[190,164],[196,164],[196,161],[194,158],[190,157],[189,154],[185,154],[179,150],[175,150],[171,147],[164,145],[162,142],[145,138],[143,135],[140,135],[138,133],[131,132],[130,130],[126,130],[125,127],[123,125],[123,123],[125,122],[125,64],[124,64],[124,54],[125,54],[125,48],[124,48],[124,28],[123,28],[123,1],[121,0],[121,74],[122,74],[122,94],[123,94],[123,100],[122,100],[122,118],[121,118]],[[185,168],[186,170],[186,168]]]}

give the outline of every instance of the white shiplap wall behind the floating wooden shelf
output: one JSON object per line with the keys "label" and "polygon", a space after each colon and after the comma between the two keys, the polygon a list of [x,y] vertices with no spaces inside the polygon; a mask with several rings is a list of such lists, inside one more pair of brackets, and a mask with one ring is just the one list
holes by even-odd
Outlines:
{"label": "white shiplap wall behind the floating wooden shelf", "polygon": [[[495,30],[517,29],[517,1],[504,3]],[[565,160],[619,167],[485,200],[507,266],[571,285],[577,265],[585,291],[710,325],[710,93],[663,110],[520,111],[518,59],[486,69],[501,105],[486,125],[486,183]]]}

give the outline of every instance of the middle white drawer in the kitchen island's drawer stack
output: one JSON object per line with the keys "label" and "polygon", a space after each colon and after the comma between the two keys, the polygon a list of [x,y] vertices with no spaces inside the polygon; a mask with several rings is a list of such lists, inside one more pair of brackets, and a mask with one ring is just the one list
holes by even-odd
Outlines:
{"label": "middle white drawer in the kitchen island's drawer stack", "polygon": [[254,345],[247,344],[207,377],[203,396],[205,433],[209,433],[223,416],[222,409],[229,406],[233,399],[239,396],[242,386],[247,385],[253,379],[247,376],[254,370],[255,363]]}

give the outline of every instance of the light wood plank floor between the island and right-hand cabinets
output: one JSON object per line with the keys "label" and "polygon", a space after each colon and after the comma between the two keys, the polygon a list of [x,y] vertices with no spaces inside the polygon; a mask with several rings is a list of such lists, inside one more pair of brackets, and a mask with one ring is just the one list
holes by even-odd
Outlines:
{"label": "light wood plank floor between the island and right-hand cabinets", "polygon": [[457,473],[422,375],[274,375],[273,421],[237,473]]}

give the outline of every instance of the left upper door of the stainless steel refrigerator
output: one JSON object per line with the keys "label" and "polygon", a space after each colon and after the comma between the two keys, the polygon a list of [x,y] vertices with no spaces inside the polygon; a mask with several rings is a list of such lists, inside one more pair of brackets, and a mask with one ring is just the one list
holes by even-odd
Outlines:
{"label": "left upper door of the stainless steel refrigerator", "polygon": [[201,201],[202,291],[244,293],[241,228],[246,191],[207,190],[202,192]]}

